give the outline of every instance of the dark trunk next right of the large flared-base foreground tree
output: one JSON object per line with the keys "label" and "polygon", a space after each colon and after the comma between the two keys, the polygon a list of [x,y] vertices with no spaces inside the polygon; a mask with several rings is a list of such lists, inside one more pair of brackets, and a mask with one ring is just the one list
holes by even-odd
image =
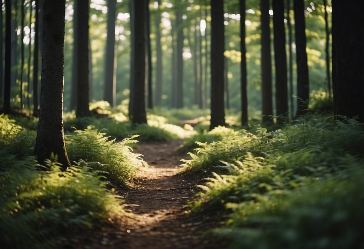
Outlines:
{"label": "dark trunk next right of the large flared-base foreground tree", "polygon": [[[77,117],[90,116],[90,68],[88,62],[88,16],[89,6],[88,1],[78,1],[76,19],[78,23],[78,44],[77,44]],[[114,32],[112,33],[114,34]]]}

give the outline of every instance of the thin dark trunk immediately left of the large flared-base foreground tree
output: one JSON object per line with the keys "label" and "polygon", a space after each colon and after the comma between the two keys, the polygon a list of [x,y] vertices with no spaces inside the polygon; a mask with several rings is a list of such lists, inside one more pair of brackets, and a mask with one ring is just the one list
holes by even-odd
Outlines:
{"label": "thin dark trunk immediately left of the large flared-base foreground tree", "polygon": [[39,0],[35,0],[34,24],[34,59],[33,59],[33,116],[39,116],[38,110],[38,55],[39,55]]}

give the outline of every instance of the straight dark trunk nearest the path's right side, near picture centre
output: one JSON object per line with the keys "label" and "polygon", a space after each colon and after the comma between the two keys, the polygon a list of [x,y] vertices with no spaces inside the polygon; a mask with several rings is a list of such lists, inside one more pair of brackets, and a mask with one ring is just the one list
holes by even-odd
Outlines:
{"label": "straight dark trunk nearest the path's right side, near picture centre", "polygon": [[224,110],[224,5],[211,1],[211,122],[210,130],[225,126]]}

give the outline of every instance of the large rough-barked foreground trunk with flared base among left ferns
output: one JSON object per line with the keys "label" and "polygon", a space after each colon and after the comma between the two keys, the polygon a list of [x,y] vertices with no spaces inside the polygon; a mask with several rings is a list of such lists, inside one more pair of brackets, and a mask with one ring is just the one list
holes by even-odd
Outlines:
{"label": "large rough-barked foreground trunk with flared base among left ferns", "polygon": [[66,0],[44,1],[44,44],[38,132],[34,155],[43,163],[51,154],[71,166],[63,135],[64,15]]}

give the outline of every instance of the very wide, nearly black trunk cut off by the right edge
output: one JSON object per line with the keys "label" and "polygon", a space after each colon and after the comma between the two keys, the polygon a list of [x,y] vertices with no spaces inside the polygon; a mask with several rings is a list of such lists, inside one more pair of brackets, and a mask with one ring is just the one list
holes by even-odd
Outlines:
{"label": "very wide, nearly black trunk cut off by the right edge", "polygon": [[[341,5],[340,5],[341,4]],[[332,83],[335,115],[364,122],[364,1],[332,1]],[[338,118],[338,117],[337,117]]]}

